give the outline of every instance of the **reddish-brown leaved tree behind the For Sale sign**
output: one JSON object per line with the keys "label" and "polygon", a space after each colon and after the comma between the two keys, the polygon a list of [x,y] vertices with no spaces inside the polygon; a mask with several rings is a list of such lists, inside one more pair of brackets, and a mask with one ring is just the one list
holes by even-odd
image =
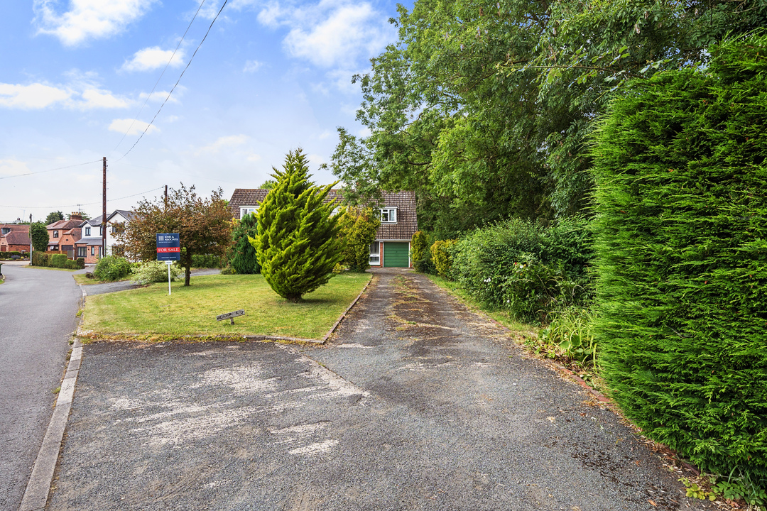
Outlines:
{"label": "reddish-brown leaved tree behind the For Sale sign", "polygon": [[223,255],[232,243],[232,213],[222,198],[221,188],[209,198],[196,194],[194,185],[170,188],[168,198],[144,199],[136,215],[118,234],[127,257],[154,260],[156,234],[177,232],[181,241],[181,265],[185,268],[184,286],[189,286],[194,254]]}

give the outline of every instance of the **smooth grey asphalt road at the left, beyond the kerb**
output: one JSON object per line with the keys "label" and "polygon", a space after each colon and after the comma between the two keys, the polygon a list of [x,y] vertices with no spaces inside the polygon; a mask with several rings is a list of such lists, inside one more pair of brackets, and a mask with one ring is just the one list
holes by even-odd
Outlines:
{"label": "smooth grey asphalt road at the left, beyond the kerb", "polygon": [[81,291],[67,271],[3,264],[0,509],[18,509],[51,419]]}

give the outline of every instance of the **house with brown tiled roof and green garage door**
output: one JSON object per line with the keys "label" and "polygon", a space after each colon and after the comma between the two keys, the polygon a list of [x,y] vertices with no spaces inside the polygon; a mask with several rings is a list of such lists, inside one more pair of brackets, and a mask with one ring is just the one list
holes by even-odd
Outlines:
{"label": "house with brown tiled roof and green garage door", "polygon": [[[237,188],[229,200],[234,218],[258,211],[268,190]],[[326,201],[341,199],[341,190],[331,190]],[[382,192],[379,203],[381,224],[370,244],[371,267],[412,267],[410,239],[418,230],[415,192]]]}

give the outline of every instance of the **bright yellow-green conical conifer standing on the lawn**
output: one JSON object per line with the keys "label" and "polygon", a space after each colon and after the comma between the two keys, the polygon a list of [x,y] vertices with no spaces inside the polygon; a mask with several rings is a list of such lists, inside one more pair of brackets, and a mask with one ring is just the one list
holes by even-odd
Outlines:
{"label": "bright yellow-green conical conifer standing on the lawn", "polygon": [[332,276],[341,261],[339,216],[335,201],[324,204],[333,185],[309,182],[308,159],[301,149],[288,152],[272,174],[277,184],[258,208],[258,232],[250,237],[264,278],[275,293],[298,302]]}

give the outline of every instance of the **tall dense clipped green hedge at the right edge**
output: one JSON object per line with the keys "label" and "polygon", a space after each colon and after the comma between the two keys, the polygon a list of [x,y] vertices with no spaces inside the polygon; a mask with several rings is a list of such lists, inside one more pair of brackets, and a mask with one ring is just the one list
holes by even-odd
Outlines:
{"label": "tall dense clipped green hedge at the right edge", "polygon": [[633,84],[598,132],[594,336],[646,434],[764,487],[767,36],[712,57]]}

